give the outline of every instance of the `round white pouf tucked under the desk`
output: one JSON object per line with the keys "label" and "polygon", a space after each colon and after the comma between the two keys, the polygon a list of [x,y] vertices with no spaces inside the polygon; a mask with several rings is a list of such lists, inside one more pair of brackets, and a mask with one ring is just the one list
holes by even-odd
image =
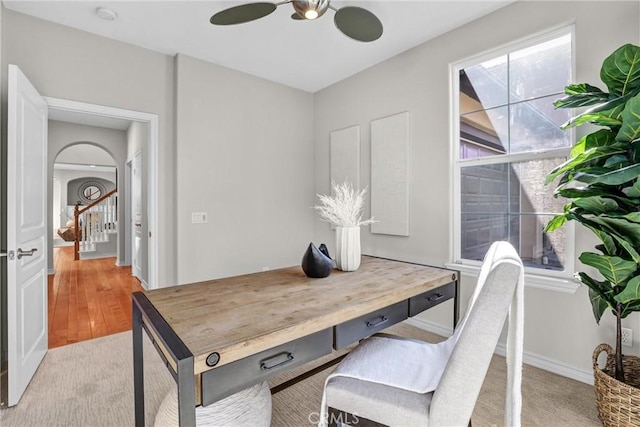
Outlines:
{"label": "round white pouf tucked under the desk", "polygon": [[[196,408],[197,426],[256,426],[271,424],[271,390],[256,384],[209,406]],[[178,391],[171,387],[156,414],[155,427],[178,425]]]}

